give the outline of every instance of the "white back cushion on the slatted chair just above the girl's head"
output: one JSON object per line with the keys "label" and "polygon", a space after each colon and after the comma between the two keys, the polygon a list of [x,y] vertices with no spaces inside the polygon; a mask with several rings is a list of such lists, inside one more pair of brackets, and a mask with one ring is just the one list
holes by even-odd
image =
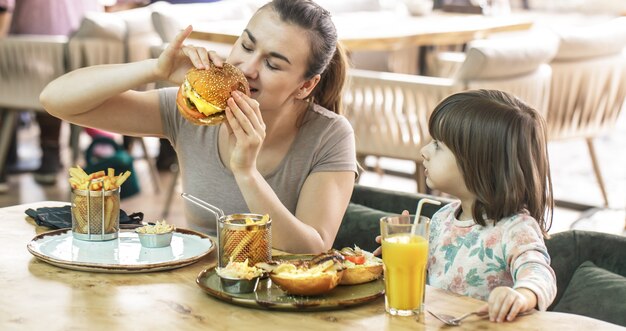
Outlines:
{"label": "white back cushion on the slatted chair just above the girl's head", "polygon": [[475,40],[468,44],[456,78],[468,81],[525,75],[550,62],[557,48],[556,35],[543,32]]}

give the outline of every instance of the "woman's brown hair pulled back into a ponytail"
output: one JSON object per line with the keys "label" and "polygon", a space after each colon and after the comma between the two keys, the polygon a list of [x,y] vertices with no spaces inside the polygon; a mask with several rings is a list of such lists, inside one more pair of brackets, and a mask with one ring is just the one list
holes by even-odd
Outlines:
{"label": "woman's brown hair pulled back into a ponytail", "polygon": [[270,8],[283,22],[307,31],[310,50],[305,79],[321,75],[310,101],[341,114],[341,97],[347,75],[347,56],[337,42],[337,30],[330,13],[310,0],[274,0],[261,9]]}

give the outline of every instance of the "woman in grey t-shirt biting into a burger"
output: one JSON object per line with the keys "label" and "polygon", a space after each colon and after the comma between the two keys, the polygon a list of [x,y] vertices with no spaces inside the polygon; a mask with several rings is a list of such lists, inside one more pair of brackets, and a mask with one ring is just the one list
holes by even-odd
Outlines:
{"label": "woman in grey t-shirt biting into a burger", "polygon": [[[80,125],[168,138],[185,192],[226,214],[269,214],[275,248],[329,249],[357,171],[354,133],[338,115],[346,61],[329,13],[307,0],[275,0],[257,11],[226,59],[246,75],[251,97],[234,92],[218,127],[185,121],[176,88],[131,90],[157,80],[181,84],[192,66],[223,64],[214,52],[183,46],[190,33],[158,59],[70,72],[44,89],[41,102]],[[214,216],[185,203],[189,226],[215,233]]]}

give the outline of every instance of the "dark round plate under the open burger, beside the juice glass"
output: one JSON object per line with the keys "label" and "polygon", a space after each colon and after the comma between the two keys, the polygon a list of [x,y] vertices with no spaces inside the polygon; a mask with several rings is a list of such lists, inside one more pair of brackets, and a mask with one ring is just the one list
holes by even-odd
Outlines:
{"label": "dark round plate under the open burger, beside the juice glass", "polygon": [[[278,259],[310,258],[311,255],[281,255]],[[375,300],[385,293],[382,278],[359,285],[338,285],[321,296],[289,295],[272,284],[269,278],[262,279],[253,293],[231,294],[222,289],[215,267],[200,272],[196,283],[202,290],[217,299],[252,308],[271,310],[334,310],[360,305]]]}

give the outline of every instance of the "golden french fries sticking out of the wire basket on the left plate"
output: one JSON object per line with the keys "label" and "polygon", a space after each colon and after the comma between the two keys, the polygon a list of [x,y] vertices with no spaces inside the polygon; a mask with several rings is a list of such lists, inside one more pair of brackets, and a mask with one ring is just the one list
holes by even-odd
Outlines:
{"label": "golden french fries sticking out of the wire basket on the left plate", "polygon": [[[91,174],[87,174],[80,166],[71,167],[70,173],[70,186],[75,190],[90,190],[100,191],[104,188],[105,191],[115,190],[130,177],[130,171],[125,171],[119,176],[115,176],[115,170],[108,168],[104,170],[96,171]],[[97,181],[94,181],[98,179]],[[91,182],[91,186],[90,186]]]}

